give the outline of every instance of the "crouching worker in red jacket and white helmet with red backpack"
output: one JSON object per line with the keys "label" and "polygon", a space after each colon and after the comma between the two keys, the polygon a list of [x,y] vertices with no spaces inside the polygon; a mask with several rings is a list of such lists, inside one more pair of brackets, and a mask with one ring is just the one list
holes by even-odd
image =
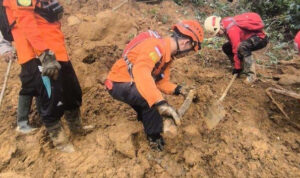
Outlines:
{"label": "crouching worker in red jacket and white helmet with red backpack", "polygon": [[255,60],[252,51],[268,44],[264,23],[256,13],[244,13],[234,17],[210,16],[204,22],[205,29],[213,35],[226,35],[229,42],[222,47],[233,64],[233,74],[246,74],[246,83],[256,80]]}

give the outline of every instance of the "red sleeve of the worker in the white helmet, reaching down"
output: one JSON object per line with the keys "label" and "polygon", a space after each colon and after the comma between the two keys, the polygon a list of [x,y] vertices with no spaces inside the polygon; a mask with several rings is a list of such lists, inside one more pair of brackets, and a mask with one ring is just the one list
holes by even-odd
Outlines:
{"label": "red sleeve of the worker in the white helmet, reaching down", "polygon": [[234,68],[235,69],[241,69],[241,60],[238,57],[238,48],[241,43],[240,39],[240,32],[241,30],[238,27],[232,27],[228,32],[227,36],[230,40],[230,43],[232,45],[232,53],[234,54],[233,60],[234,60]]}

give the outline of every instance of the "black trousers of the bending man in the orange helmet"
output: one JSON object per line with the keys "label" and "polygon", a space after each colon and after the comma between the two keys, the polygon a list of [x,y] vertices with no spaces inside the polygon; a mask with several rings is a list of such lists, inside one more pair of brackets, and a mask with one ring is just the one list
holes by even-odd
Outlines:
{"label": "black trousers of the bending man in the orange helmet", "polygon": [[138,120],[142,121],[148,136],[162,132],[162,117],[157,109],[149,107],[147,101],[140,95],[135,84],[113,82],[109,94],[124,103],[129,104],[137,113]]}

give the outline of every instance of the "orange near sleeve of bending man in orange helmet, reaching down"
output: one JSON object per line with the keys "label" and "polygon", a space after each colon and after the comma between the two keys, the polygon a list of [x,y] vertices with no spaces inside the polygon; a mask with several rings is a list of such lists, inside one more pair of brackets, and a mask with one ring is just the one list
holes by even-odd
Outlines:
{"label": "orange near sleeve of bending man in orange helmet, reaching down", "polygon": [[146,49],[141,52],[133,65],[132,74],[137,90],[145,98],[150,107],[153,104],[164,100],[161,92],[156,87],[151,72],[155,66],[155,62],[149,57],[153,49]]}

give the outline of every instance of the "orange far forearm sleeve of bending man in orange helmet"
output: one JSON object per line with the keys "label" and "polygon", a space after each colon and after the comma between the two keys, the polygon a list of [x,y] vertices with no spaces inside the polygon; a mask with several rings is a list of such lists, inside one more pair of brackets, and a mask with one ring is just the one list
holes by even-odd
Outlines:
{"label": "orange far forearm sleeve of bending man in orange helmet", "polygon": [[177,85],[170,82],[170,65],[164,71],[164,78],[157,82],[159,90],[165,94],[173,94]]}

